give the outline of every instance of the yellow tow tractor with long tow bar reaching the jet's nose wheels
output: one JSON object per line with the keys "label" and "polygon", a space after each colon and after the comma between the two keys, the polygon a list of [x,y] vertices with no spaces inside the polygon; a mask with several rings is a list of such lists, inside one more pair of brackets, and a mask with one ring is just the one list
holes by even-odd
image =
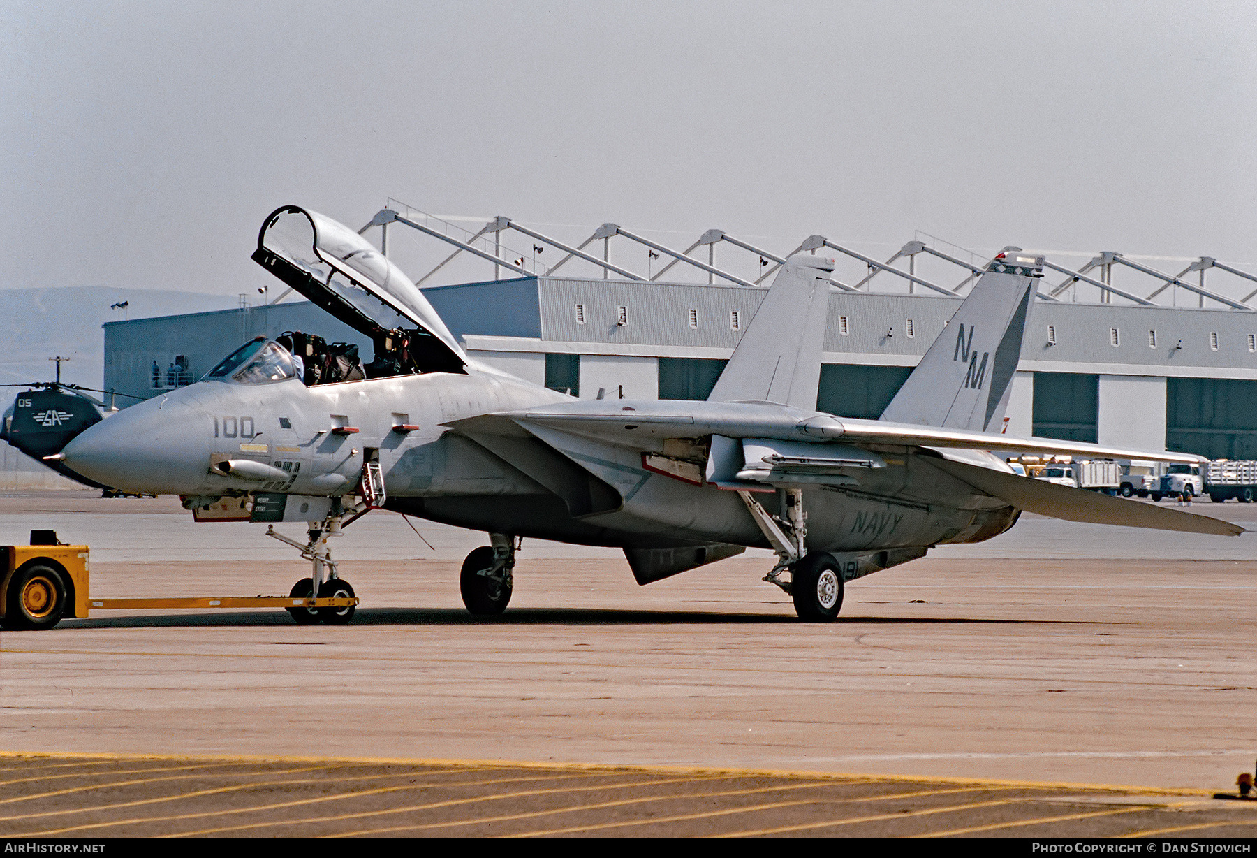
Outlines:
{"label": "yellow tow tractor with long tow bar reaching the jet's nose wheels", "polygon": [[63,545],[57,531],[30,531],[30,545],[0,546],[0,625],[5,629],[50,629],[62,618],[92,610],[152,608],[283,608],[302,625],[343,625],[357,596],[199,596],[190,599],[96,599],[91,595],[89,551]]}

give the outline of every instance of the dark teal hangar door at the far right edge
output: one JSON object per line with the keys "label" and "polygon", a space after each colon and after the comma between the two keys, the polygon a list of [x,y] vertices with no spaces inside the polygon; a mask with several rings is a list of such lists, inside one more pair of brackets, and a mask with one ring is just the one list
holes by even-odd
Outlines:
{"label": "dark teal hangar door at the far right edge", "polygon": [[1165,449],[1257,459],[1257,381],[1166,379]]}

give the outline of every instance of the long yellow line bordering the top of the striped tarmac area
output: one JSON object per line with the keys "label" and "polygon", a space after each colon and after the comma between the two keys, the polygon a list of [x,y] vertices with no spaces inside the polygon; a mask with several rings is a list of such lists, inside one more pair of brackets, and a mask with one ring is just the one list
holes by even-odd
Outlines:
{"label": "long yellow line bordering the top of the striped tarmac area", "polygon": [[104,760],[250,760],[255,762],[323,762],[326,765],[409,765],[409,766],[463,766],[470,770],[493,769],[543,769],[551,771],[608,771],[608,772],[646,772],[661,775],[711,775],[719,777],[793,777],[803,780],[866,781],[876,780],[900,784],[952,784],[957,786],[1009,786],[1042,790],[1084,790],[1097,793],[1125,793],[1133,795],[1207,795],[1216,790],[1199,788],[1161,788],[1133,784],[1081,784],[1072,781],[999,780],[994,777],[955,777],[943,775],[887,775],[877,772],[811,771],[793,769],[730,769],[716,766],[670,766],[649,764],[618,762],[553,762],[537,760],[469,760],[446,757],[321,757],[293,754],[233,754],[211,756],[204,754],[59,754],[53,751],[0,751],[0,760],[6,757],[55,757],[78,756],[82,759]]}

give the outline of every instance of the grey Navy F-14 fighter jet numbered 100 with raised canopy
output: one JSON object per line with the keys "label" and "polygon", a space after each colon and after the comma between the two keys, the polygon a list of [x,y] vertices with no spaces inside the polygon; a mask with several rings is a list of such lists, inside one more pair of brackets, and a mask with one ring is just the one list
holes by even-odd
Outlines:
{"label": "grey Navy F-14 fighter jet numbered 100 with raised canopy", "polygon": [[377,507],[489,535],[461,571],[476,614],[507,608],[517,537],[621,547],[639,584],[772,549],[764,580],[802,619],[832,620],[848,581],[988,540],[1023,510],[1242,532],[1026,479],[988,452],[1198,460],[991,430],[1003,424],[1041,257],[991,263],[879,420],[816,409],[831,259],[787,260],[706,401],[634,401],[577,400],[469,359],[401,270],[314,211],[275,210],[253,258],[368,335],[375,359],[332,356],[300,335],[258,338],[54,458],[119,491],[181,494],[206,517],[234,508],[309,522],[308,545],[285,538],[314,561],[293,595],[352,595],[327,537]]}

